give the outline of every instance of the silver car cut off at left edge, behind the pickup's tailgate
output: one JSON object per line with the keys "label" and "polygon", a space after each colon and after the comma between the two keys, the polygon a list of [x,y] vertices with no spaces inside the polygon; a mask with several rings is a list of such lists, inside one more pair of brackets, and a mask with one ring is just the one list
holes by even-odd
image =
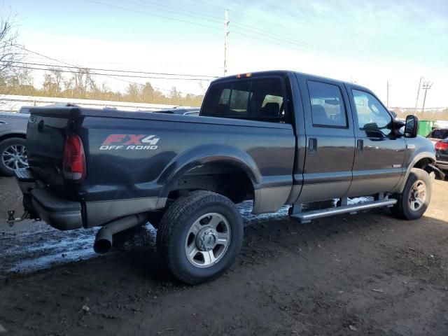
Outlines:
{"label": "silver car cut off at left edge, behind the pickup's tailgate", "polygon": [[29,114],[0,112],[0,174],[13,176],[14,169],[28,167],[27,123]]}

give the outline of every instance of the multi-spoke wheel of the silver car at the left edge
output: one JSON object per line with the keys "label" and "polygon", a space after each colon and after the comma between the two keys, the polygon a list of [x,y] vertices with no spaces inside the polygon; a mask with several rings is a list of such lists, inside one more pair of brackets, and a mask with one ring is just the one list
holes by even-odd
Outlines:
{"label": "multi-spoke wheel of the silver car at the left edge", "polygon": [[13,176],[14,170],[28,167],[26,140],[9,138],[0,142],[0,173]]}

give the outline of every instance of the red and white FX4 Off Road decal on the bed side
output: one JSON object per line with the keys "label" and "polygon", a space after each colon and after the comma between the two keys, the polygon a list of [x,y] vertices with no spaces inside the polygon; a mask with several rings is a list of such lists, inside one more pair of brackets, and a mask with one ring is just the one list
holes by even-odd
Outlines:
{"label": "red and white FX4 Off Road decal on the bed side", "polygon": [[109,134],[106,140],[99,147],[100,151],[116,151],[124,149],[132,150],[152,150],[157,149],[160,138],[157,135],[145,134]]}

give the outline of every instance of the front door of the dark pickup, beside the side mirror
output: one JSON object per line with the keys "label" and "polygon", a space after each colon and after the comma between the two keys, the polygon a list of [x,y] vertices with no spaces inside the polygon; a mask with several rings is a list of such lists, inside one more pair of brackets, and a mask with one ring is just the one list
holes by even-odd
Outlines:
{"label": "front door of the dark pickup, beside the side mirror", "polygon": [[395,137],[392,116],[379,99],[362,87],[347,85],[353,109],[356,155],[349,197],[393,190],[403,174],[406,144]]}

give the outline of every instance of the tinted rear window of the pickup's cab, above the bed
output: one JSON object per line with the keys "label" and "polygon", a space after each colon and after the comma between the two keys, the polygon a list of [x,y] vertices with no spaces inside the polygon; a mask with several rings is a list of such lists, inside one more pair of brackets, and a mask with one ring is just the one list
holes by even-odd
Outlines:
{"label": "tinted rear window of the pickup's cab, above the bed", "polygon": [[285,101],[281,78],[230,80],[211,85],[200,115],[285,123]]}

